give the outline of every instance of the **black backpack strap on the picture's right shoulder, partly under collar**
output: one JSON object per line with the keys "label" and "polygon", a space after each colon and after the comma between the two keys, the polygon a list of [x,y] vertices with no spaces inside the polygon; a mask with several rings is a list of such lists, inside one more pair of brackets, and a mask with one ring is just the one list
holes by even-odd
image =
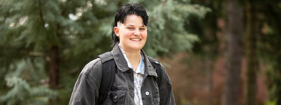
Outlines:
{"label": "black backpack strap on the picture's right shoulder, partly under collar", "polygon": [[162,80],[162,71],[163,71],[160,62],[152,57],[148,57],[148,59],[157,73],[157,78],[155,78],[155,80],[157,82],[158,88],[160,88],[159,86],[160,86],[160,81]]}

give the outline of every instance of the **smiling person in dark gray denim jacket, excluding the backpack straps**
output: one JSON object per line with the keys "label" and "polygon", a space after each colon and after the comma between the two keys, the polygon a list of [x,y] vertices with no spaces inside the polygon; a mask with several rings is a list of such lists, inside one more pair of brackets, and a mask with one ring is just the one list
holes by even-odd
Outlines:
{"label": "smiling person in dark gray denim jacket, excluding the backpack straps", "polygon": [[[113,101],[106,97],[104,105],[174,105],[172,84],[162,66],[158,87],[157,73],[142,50],[147,38],[148,16],[138,3],[123,4],[112,24],[115,71],[111,92]],[[89,62],[75,83],[69,105],[93,105],[98,101],[103,66],[101,59]],[[112,103],[113,102],[113,103]]]}

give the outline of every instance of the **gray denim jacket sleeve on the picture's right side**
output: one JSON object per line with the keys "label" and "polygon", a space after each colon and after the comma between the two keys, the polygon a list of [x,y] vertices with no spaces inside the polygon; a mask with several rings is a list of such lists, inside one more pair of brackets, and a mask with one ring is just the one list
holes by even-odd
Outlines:
{"label": "gray denim jacket sleeve on the picture's right side", "polygon": [[175,105],[175,98],[172,90],[171,80],[166,72],[166,69],[162,67],[162,79],[160,80],[159,88],[159,105]]}

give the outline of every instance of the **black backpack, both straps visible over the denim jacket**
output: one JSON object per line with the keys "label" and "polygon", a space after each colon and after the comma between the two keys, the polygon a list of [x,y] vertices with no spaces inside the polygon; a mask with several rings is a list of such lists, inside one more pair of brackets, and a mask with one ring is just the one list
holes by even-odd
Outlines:
{"label": "black backpack, both straps visible over the denim jacket", "polygon": [[[101,78],[101,85],[99,87],[99,97],[98,102],[96,105],[102,104],[106,97],[109,96],[113,103],[113,95],[110,91],[114,77],[115,77],[115,71],[117,70],[117,65],[115,64],[113,55],[111,52],[106,52],[98,56],[98,58],[101,59],[101,63],[103,65],[103,74]],[[161,71],[162,67],[160,65],[160,62],[156,59],[153,59],[152,57],[148,57],[149,62],[152,64],[154,70],[157,73],[157,78],[154,78],[157,82],[157,85],[159,87],[159,81],[161,80]],[[160,71],[160,72],[159,72]]]}

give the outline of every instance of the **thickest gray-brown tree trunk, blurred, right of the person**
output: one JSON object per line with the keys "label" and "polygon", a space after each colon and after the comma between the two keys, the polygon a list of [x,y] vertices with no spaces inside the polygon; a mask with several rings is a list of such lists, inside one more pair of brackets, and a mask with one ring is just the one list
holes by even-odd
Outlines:
{"label": "thickest gray-brown tree trunk, blurred, right of the person", "polygon": [[237,0],[228,1],[228,60],[221,105],[239,105],[243,12]]}

